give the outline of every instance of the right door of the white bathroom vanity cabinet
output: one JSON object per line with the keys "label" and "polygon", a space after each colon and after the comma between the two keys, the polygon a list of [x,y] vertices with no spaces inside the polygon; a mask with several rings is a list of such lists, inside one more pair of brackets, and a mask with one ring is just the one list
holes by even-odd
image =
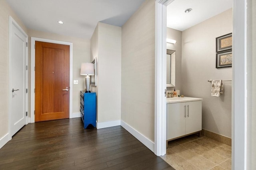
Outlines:
{"label": "right door of the white bathroom vanity cabinet", "polygon": [[186,134],[202,130],[202,101],[186,102]]}

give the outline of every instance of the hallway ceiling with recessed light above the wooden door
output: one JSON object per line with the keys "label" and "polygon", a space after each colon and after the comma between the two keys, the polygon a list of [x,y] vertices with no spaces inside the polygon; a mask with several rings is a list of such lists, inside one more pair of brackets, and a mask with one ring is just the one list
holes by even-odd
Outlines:
{"label": "hallway ceiling with recessed light above the wooden door", "polygon": [[[97,23],[122,26],[144,0],[6,0],[28,29],[90,39]],[[59,24],[61,20],[64,24]]]}

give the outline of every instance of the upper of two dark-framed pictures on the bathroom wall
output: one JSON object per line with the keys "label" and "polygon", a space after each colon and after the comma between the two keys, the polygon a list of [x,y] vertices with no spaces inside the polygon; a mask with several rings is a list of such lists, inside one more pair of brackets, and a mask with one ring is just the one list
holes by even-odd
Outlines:
{"label": "upper of two dark-framed pictures on the bathroom wall", "polygon": [[232,33],[216,38],[216,53],[232,49]]}

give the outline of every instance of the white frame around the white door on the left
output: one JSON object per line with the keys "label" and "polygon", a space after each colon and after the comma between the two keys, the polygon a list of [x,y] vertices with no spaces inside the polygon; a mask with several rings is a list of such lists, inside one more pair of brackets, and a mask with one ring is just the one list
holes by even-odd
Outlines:
{"label": "white frame around the white door on the left", "polygon": [[[9,65],[8,65],[8,72],[9,72],[9,76],[8,76],[8,84],[9,84],[9,87],[8,87],[8,134],[9,134],[9,141],[12,139],[12,135],[11,135],[11,98],[10,98],[10,91],[12,90],[12,87],[10,86],[11,84],[11,78],[10,78],[10,68],[11,68],[11,45],[12,45],[12,42],[11,42],[11,35],[12,35],[12,27],[16,27],[20,33],[22,33],[25,37],[26,37],[26,42],[28,43],[28,35],[26,34],[26,32],[20,27],[20,25],[18,25],[18,23],[11,17],[9,16]],[[26,52],[25,52],[25,63],[26,63],[26,66],[28,66],[28,46],[26,47]],[[26,75],[25,75],[25,86],[26,88],[28,89],[28,70],[26,70]],[[26,93],[26,90],[24,90],[24,92]],[[26,96],[26,99],[25,99],[25,109],[26,111],[28,111],[28,93],[25,94]],[[25,114],[25,113],[24,113]],[[28,116],[26,116],[26,124],[28,124]]]}

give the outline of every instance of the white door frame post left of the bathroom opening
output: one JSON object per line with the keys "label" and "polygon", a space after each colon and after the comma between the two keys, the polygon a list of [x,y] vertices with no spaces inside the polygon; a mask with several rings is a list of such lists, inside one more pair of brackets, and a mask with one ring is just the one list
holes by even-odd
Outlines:
{"label": "white door frame post left of the bathroom opening", "polygon": [[166,154],[166,7],[173,1],[156,0],[154,153],[157,156]]}

